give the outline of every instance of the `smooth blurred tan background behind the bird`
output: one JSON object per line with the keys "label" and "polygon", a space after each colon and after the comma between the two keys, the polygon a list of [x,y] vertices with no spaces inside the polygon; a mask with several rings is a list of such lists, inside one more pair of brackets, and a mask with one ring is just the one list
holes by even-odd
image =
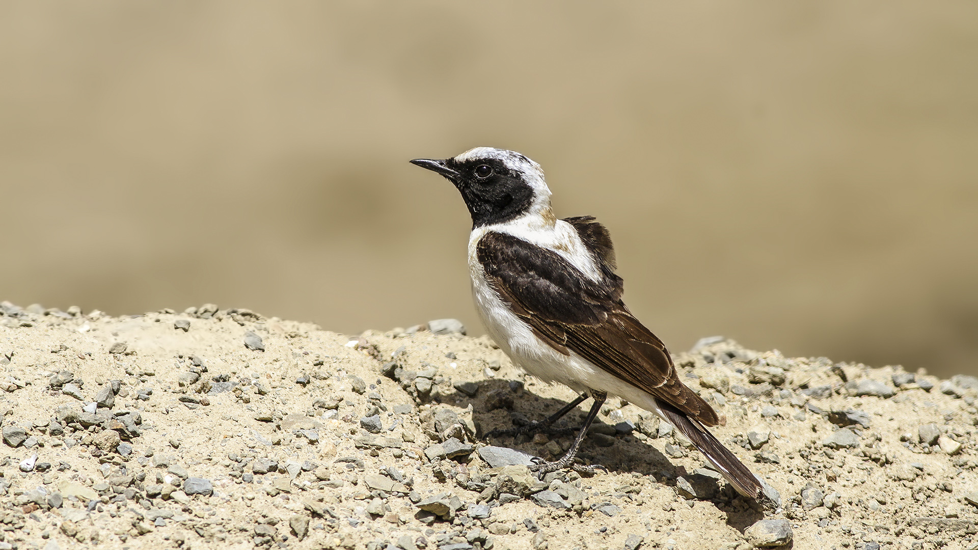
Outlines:
{"label": "smooth blurred tan background behind the bird", "polygon": [[543,164],[671,348],[978,374],[978,4],[4,2],[0,299],[457,317],[467,211]]}

